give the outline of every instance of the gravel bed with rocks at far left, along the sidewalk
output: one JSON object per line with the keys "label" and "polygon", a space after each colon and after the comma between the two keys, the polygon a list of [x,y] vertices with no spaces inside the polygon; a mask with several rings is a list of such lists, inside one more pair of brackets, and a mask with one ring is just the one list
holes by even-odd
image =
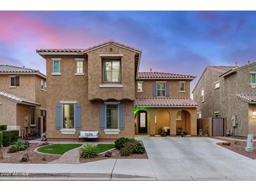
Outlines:
{"label": "gravel bed with rocks at far left, along the sidewalk", "polygon": [[[18,151],[16,153],[7,153],[11,146],[2,147],[1,151],[4,152],[4,158],[0,159],[0,163],[20,163],[20,159],[25,153],[29,155],[29,162],[25,163],[45,164],[60,158],[60,156],[36,153],[34,149],[37,147],[37,144],[29,144],[29,147],[25,151]],[[43,157],[46,158],[46,160],[42,160]]]}

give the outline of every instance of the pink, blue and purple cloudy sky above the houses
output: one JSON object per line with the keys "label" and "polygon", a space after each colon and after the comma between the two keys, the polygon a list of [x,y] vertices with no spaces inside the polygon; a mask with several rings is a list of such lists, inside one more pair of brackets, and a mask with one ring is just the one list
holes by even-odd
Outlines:
{"label": "pink, blue and purple cloudy sky above the houses", "polygon": [[140,71],[199,78],[208,65],[256,61],[255,20],[255,11],[0,11],[0,64],[45,73],[36,48],[86,48],[114,39],[142,50]]}

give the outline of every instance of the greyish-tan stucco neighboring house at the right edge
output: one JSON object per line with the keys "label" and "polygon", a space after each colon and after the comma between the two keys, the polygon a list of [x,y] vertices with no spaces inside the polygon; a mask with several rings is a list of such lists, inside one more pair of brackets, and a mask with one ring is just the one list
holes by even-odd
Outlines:
{"label": "greyish-tan stucco neighboring house at the right edge", "polygon": [[256,135],[255,75],[256,63],[207,67],[193,90],[198,118],[225,118],[234,135]]}

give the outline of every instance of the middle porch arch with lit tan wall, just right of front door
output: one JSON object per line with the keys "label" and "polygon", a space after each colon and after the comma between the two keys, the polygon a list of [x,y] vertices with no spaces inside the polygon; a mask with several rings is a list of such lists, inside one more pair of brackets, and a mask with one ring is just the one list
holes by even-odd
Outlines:
{"label": "middle porch arch with lit tan wall, just right of front door", "polygon": [[156,134],[158,134],[158,130],[160,128],[165,131],[170,130],[170,114],[169,114],[169,112],[164,109],[156,111],[155,124],[156,124]]}

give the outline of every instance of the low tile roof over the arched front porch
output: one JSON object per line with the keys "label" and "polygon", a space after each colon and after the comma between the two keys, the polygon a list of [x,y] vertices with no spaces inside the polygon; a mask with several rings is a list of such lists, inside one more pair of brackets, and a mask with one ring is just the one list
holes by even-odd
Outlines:
{"label": "low tile roof over the arched front porch", "polygon": [[196,107],[198,104],[190,98],[136,98],[135,107]]}

